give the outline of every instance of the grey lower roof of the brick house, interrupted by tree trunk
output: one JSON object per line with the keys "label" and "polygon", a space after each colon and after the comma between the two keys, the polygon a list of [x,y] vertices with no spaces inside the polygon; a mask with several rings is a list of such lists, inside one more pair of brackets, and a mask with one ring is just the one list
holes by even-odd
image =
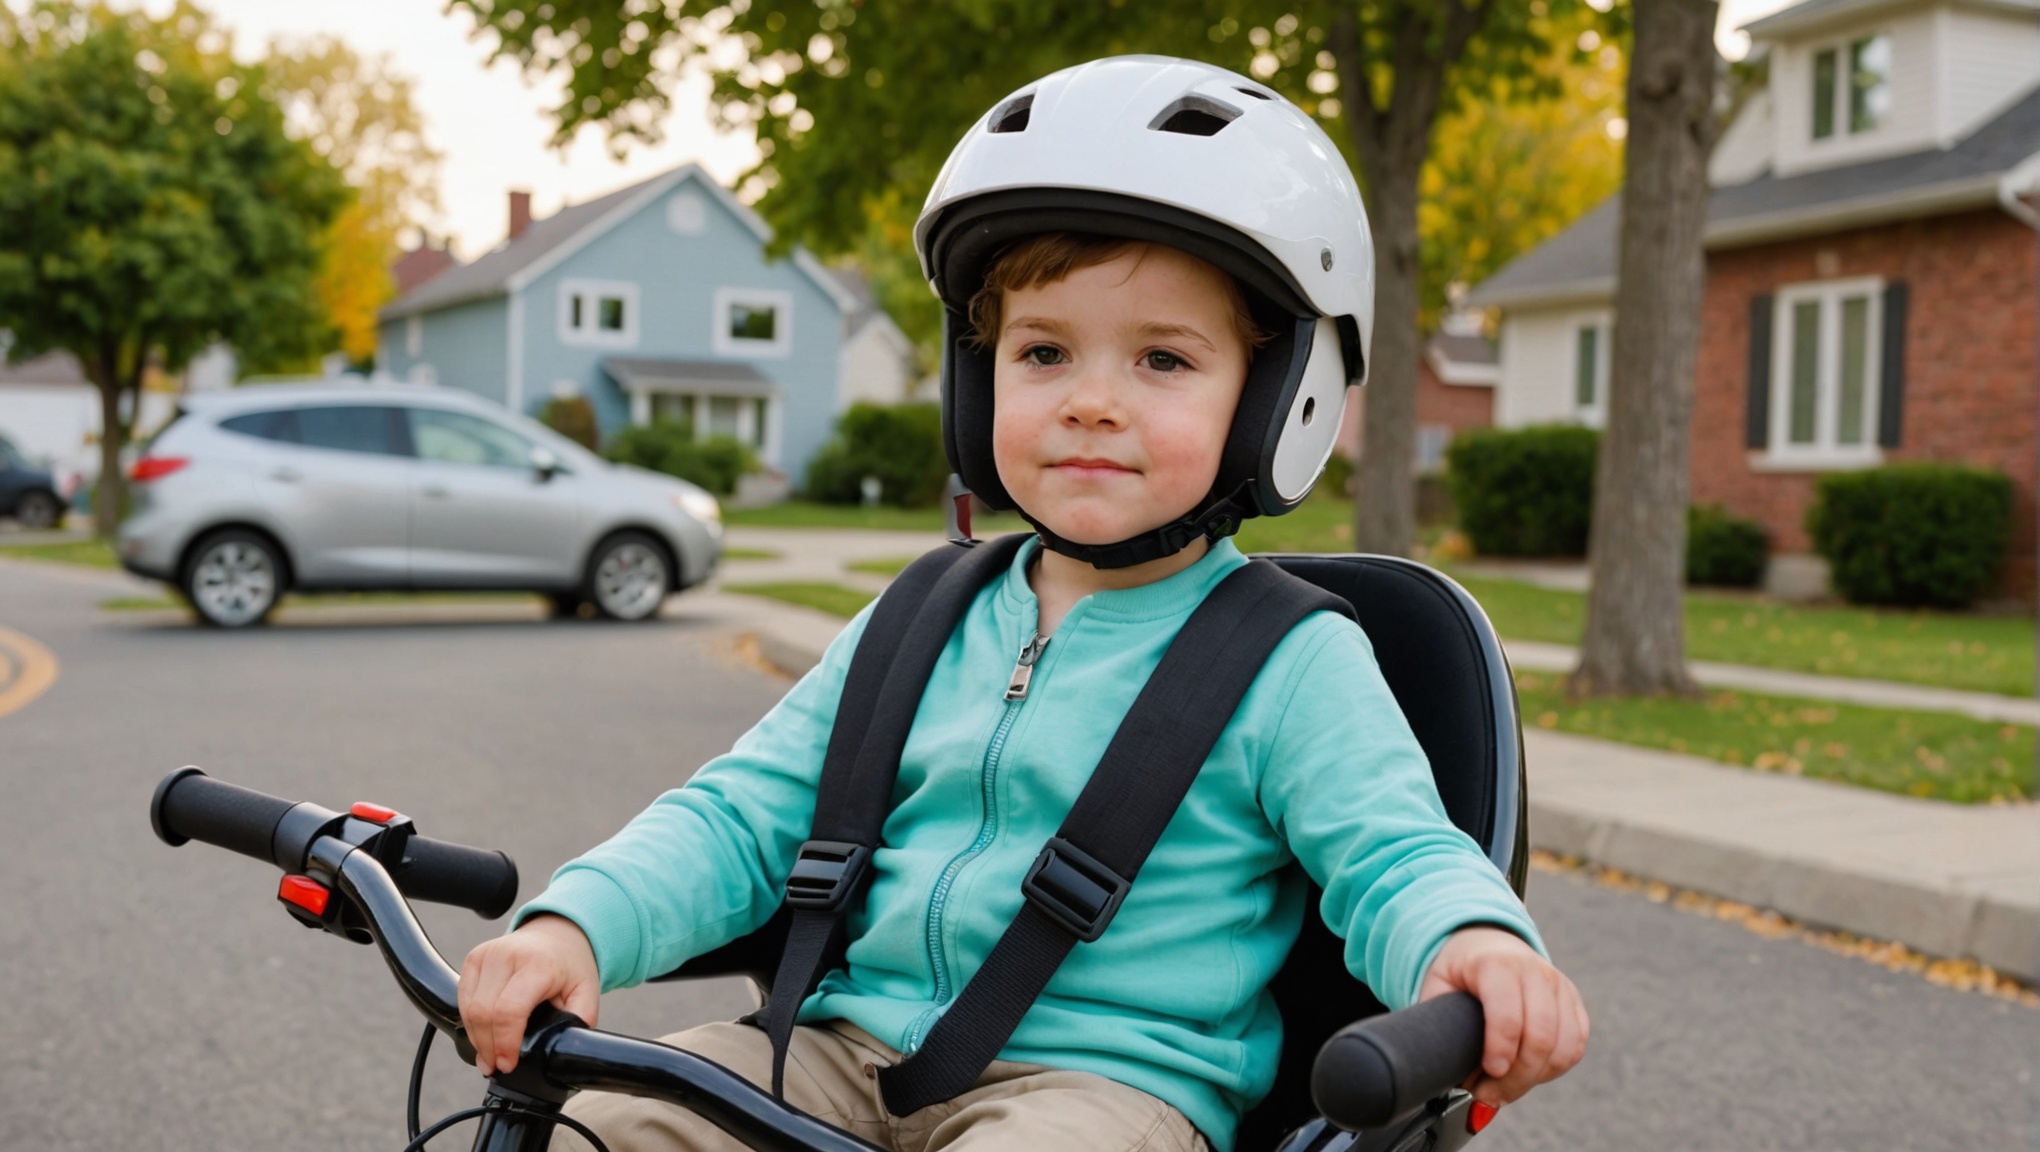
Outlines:
{"label": "grey lower roof of the brick house, interrupted by tree trunk", "polygon": [[[1726,249],[1983,208],[1995,204],[1999,184],[2036,155],[2040,88],[1950,149],[1924,149],[1789,177],[1765,173],[1746,184],[1716,188],[1707,202],[1705,243],[1710,249]],[[1495,308],[1614,296],[1620,218],[1622,194],[1616,194],[1481,281],[1467,294],[1467,304]]]}

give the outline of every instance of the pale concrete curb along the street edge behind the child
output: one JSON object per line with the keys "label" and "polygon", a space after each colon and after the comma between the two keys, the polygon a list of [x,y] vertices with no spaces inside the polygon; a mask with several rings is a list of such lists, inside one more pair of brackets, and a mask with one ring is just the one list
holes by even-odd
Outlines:
{"label": "pale concrete curb along the street edge behind the child", "polygon": [[[843,628],[757,597],[685,601],[741,622],[792,677]],[[1536,848],[2040,983],[2040,809],[1958,807],[1536,730],[1526,740]]]}

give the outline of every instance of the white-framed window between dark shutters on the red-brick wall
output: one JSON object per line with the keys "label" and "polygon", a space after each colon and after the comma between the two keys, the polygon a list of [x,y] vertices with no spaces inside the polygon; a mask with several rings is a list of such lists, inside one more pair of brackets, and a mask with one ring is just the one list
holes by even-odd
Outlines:
{"label": "white-framed window between dark shutters on the red-brick wall", "polygon": [[[1842,444],[1836,422],[1842,408],[1842,300],[1869,300],[1863,355],[1863,442]],[[1814,361],[1814,442],[1791,442],[1791,361],[1793,308],[1820,304]],[[1769,471],[1844,471],[1883,463],[1877,428],[1883,408],[1885,281],[1877,275],[1787,283],[1777,290],[1771,312],[1771,442],[1752,463]]]}

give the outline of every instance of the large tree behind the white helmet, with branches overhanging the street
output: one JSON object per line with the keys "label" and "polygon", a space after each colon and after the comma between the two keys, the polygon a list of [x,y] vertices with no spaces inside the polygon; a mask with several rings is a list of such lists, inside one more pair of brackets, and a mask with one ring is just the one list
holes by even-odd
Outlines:
{"label": "large tree behind the white helmet, with branches overhanging the street", "polygon": [[[1595,0],[1595,8],[1610,0]],[[496,55],[563,73],[557,139],[600,126],[655,141],[669,86],[714,77],[714,114],[757,135],[741,194],[824,255],[861,253],[881,304],[926,341],[938,314],[906,234],[963,130],[1014,88],[1116,53],[1242,69],[1326,122],[1357,161],[1377,247],[1359,542],[1408,551],[1414,530],[1418,179],[1438,118],[1467,98],[1548,98],[1540,69],[1581,0],[451,0]],[[1571,49],[1569,49],[1571,51]]]}

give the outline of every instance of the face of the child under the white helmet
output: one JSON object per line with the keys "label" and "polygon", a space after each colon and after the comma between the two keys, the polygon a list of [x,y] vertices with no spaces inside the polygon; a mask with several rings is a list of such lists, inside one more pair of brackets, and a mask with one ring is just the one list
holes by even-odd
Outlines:
{"label": "face of the child under the white helmet", "polygon": [[991,455],[1020,508],[1077,544],[1195,510],[1246,383],[1224,273],[1140,245],[1002,312]]}

